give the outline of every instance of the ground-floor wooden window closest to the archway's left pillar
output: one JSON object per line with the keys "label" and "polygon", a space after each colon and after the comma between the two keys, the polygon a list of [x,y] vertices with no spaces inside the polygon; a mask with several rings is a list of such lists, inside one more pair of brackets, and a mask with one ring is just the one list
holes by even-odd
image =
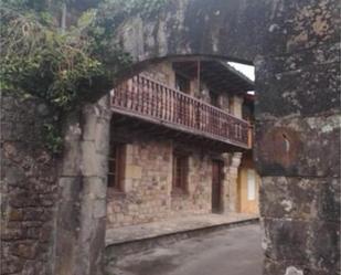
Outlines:
{"label": "ground-floor wooden window closest to the archway's left pillar", "polygon": [[125,145],[118,142],[110,144],[108,187],[117,191],[122,191],[122,179],[125,168]]}

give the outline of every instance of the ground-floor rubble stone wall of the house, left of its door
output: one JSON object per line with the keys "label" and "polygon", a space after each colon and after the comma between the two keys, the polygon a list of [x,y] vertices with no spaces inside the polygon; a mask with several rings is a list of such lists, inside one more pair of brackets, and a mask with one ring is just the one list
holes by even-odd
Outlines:
{"label": "ground-floor rubble stone wall of the house, left of its door", "polygon": [[[136,136],[132,130],[128,133],[130,137]],[[202,154],[200,148],[187,148],[188,190],[172,193],[174,141],[139,133],[125,147],[124,187],[122,191],[108,188],[107,228],[211,212],[212,166],[207,151]]]}

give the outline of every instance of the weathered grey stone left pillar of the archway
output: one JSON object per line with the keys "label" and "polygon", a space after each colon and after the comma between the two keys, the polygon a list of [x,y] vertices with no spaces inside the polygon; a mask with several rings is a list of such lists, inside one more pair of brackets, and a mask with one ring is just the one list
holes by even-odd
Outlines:
{"label": "weathered grey stone left pillar of the archway", "polygon": [[68,118],[58,181],[54,274],[102,274],[109,125],[108,97]]}

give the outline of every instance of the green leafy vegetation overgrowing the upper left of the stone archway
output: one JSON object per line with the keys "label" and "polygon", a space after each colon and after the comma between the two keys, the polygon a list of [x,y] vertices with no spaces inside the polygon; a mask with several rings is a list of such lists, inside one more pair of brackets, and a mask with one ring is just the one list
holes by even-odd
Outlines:
{"label": "green leafy vegetation overgrowing the upper left of the stone archway", "polygon": [[[65,14],[65,8],[77,11]],[[166,0],[3,0],[0,4],[0,87],[42,98],[60,116],[94,91],[109,91],[131,57],[113,43],[116,28],[132,13],[151,14]],[[64,14],[63,14],[64,12]],[[61,18],[73,17],[63,28]],[[77,20],[74,20],[74,18]],[[58,120],[58,119],[57,119]],[[45,127],[47,147],[60,150],[60,125]]]}

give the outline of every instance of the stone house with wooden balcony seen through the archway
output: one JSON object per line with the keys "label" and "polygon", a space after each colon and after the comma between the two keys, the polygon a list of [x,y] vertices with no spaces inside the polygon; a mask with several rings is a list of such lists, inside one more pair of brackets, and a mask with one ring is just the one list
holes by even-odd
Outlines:
{"label": "stone house with wooden balcony seen through the archway", "polygon": [[113,89],[107,226],[256,212],[257,187],[244,194],[253,88],[227,63],[173,60]]}

